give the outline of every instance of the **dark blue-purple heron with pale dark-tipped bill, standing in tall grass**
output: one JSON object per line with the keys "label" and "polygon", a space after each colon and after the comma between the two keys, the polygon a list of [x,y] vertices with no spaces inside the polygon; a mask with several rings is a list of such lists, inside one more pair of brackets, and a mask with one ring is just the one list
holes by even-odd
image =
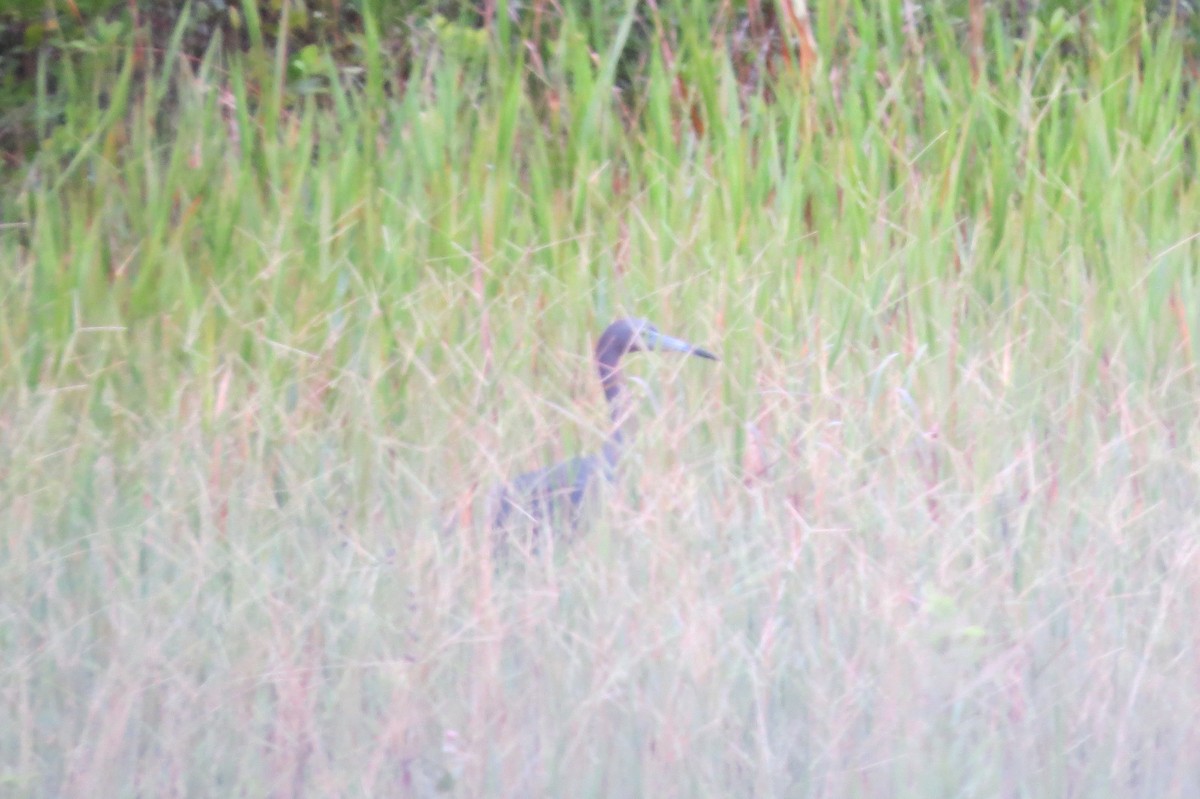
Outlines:
{"label": "dark blue-purple heron with pale dark-tipped bill, standing in tall grass", "polygon": [[576,528],[584,501],[601,480],[616,477],[617,463],[629,438],[629,396],[620,359],[629,353],[683,353],[706,360],[719,360],[707,349],[682,338],[662,334],[646,319],[618,319],[608,325],[596,342],[595,366],[608,402],[612,427],[599,452],[570,458],[562,463],[518,475],[502,486],[494,500],[492,529],[505,530],[514,524],[566,523]]}

